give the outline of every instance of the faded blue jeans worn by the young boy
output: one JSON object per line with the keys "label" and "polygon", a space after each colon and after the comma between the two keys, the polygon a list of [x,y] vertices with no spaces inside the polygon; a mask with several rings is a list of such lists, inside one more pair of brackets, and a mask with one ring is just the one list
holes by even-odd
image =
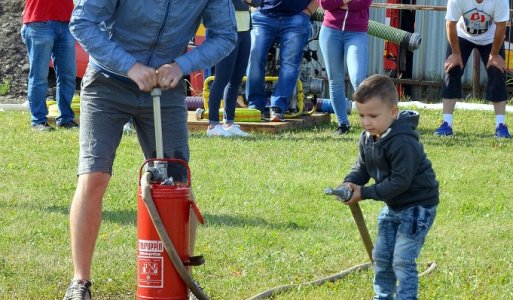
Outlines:
{"label": "faded blue jeans worn by the young boy", "polygon": [[[383,207],[378,216],[378,238],[372,250],[374,299],[417,299],[416,259],[433,225],[437,205],[402,211]],[[399,281],[396,287],[396,282]]]}

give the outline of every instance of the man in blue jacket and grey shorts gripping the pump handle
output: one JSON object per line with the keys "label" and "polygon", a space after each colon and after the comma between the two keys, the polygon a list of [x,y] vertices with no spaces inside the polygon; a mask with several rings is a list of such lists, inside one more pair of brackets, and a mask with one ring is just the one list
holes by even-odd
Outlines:
{"label": "man in blue jacket and grey shorts gripping the pump handle", "polygon": [[[207,39],[185,52],[200,22]],[[73,280],[64,299],[90,299],[90,269],[123,125],[133,118],[146,158],[155,157],[150,91],[162,91],[164,156],[188,160],[182,76],[210,67],[235,46],[230,0],[82,0],[72,34],[90,55],[82,80],[78,186],[70,210]]]}

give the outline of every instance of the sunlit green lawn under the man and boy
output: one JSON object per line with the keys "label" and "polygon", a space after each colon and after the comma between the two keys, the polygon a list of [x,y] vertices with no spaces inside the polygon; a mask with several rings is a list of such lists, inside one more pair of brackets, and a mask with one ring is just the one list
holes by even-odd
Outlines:
{"label": "sunlit green lawn under the man and boy", "polygon": [[[436,270],[421,299],[513,299],[513,144],[493,138],[491,112],[458,111],[455,138],[436,138],[440,112],[419,130],[441,203],[419,259]],[[509,119],[513,116],[509,115]],[[36,133],[26,112],[0,113],[0,299],[60,299],[71,276],[68,212],[78,132]],[[351,115],[353,124],[357,116]],[[333,127],[247,139],[192,133],[191,171],[206,219],[195,278],[213,299],[245,299],[366,262],[350,211],[322,194],[347,173],[359,129]],[[104,200],[93,272],[95,299],[134,299],[136,187],[142,155],[125,136]],[[371,236],[382,204],[361,203]],[[370,299],[372,271],[277,299]]]}

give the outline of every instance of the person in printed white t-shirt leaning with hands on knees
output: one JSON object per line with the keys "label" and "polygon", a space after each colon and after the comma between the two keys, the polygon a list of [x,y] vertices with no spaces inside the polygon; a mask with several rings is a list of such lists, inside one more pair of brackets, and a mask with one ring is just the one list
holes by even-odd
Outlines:
{"label": "person in printed white t-shirt leaning with hands on knees", "polygon": [[511,138],[506,125],[506,63],[504,35],[509,20],[508,0],[448,0],[446,30],[449,44],[444,63],[442,85],[443,120],[435,131],[438,136],[452,136],[453,111],[462,98],[461,76],[465,64],[477,49],[488,75],[486,100],[495,110],[495,136]]}

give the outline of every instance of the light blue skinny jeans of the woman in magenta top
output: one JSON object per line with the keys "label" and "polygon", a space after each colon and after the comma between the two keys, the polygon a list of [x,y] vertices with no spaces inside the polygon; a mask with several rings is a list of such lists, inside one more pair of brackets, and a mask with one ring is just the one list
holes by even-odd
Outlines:
{"label": "light blue skinny jeans of the woman in magenta top", "polygon": [[366,32],[341,31],[322,26],[319,33],[331,104],[339,125],[349,125],[346,110],[345,63],[353,89],[365,80],[367,73],[368,35]]}

